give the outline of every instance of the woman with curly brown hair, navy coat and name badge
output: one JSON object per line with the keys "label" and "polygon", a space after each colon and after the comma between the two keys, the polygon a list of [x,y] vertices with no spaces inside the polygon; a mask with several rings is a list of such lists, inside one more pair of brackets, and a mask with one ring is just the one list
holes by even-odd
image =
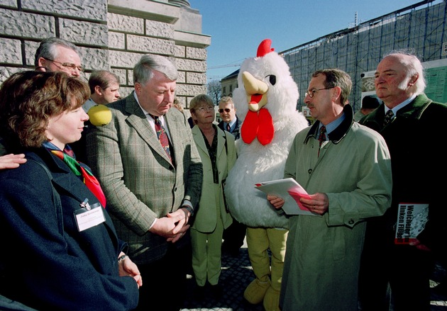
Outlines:
{"label": "woman with curly brown hair, navy coat and name badge", "polygon": [[[142,285],[98,181],[75,159],[84,81],[18,72],[0,89],[0,136],[27,161],[0,171],[0,293],[37,310],[133,310]],[[4,299],[2,299],[4,301]]]}

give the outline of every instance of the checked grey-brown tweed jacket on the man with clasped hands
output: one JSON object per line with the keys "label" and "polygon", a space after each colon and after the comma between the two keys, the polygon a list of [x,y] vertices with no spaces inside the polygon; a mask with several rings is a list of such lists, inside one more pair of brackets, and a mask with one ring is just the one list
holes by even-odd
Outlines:
{"label": "checked grey-brown tweed jacket on the man with clasped hands", "polygon": [[[133,96],[110,103],[111,122],[87,134],[88,164],[98,176],[118,237],[128,242],[137,264],[161,259],[169,244],[148,232],[155,218],[197,205],[202,188],[202,161],[183,113],[165,114],[172,142],[170,162]],[[183,241],[186,242],[186,241]],[[182,245],[182,239],[175,243]]]}

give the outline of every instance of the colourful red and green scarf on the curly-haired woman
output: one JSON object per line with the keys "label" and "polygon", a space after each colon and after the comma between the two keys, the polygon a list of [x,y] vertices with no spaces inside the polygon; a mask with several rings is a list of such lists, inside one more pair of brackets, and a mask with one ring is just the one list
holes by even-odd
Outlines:
{"label": "colourful red and green scarf on the curly-haired woman", "polygon": [[70,152],[70,149],[65,149],[65,152],[60,150],[50,149],[50,152],[55,154],[56,157],[61,159],[70,170],[76,176],[82,177],[82,181],[84,181],[85,186],[89,188],[89,191],[92,191],[94,196],[99,200],[103,208],[106,208],[106,197],[104,196],[104,192],[101,189],[101,185],[99,185],[99,181],[93,176],[92,171],[90,171],[89,167],[85,164],[77,162],[76,159],[70,157],[66,152]]}

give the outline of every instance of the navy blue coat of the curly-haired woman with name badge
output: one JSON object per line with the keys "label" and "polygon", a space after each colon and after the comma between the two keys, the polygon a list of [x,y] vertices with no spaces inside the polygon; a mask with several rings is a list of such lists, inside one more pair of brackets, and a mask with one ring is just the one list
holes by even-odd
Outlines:
{"label": "navy blue coat of the curly-haired woman with name badge", "polygon": [[[37,310],[133,310],[138,286],[118,276],[118,254],[126,244],[108,213],[106,222],[79,232],[73,215],[79,203],[99,201],[45,148],[26,152],[26,158],[17,169],[0,171],[2,293]],[[62,209],[55,208],[52,182],[36,162],[50,170]]]}

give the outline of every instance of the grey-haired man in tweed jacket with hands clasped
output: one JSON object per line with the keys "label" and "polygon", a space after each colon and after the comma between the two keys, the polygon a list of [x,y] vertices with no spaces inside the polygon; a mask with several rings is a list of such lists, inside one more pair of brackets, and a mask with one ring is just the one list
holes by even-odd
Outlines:
{"label": "grey-haired man in tweed jacket with hands clasped", "polygon": [[[190,262],[189,217],[202,188],[202,162],[184,114],[170,109],[177,69],[165,57],[143,55],[133,69],[135,90],[109,104],[111,122],[87,135],[89,165],[99,177],[118,237],[143,280],[138,310],[153,299],[180,310]],[[155,132],[159,118],[170,157]]]}

